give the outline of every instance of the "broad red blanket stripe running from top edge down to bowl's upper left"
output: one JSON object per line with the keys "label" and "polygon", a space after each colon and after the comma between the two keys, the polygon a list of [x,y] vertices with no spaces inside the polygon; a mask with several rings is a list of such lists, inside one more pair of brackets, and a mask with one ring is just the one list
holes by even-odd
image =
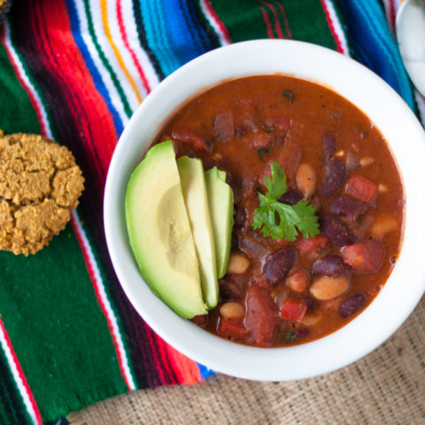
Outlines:
{"label": "broad red blanket stripe running from top edge down to bowl's upper left", "polygon": [[99,187],[103,187],[117,138],[112,117],[73,40],[65,2],[50,2],[50,7],[42,7],[40,1],[34,4],[32,24],[34,34],[38,35],[40,56],[63,90],[68,109],[80,128],[82,143],[97,171]]}

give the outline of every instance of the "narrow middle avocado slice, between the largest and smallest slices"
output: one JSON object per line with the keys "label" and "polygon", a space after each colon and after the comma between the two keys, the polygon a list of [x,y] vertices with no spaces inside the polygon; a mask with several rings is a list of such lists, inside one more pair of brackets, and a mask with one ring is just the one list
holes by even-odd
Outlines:
{"label": "narrow middle avocado slice, between the largest and smallest slices", "polygon": [[202,293],[206,305],[213,308],[219,302],[219,282],[204,168],[200,159],[189,157],[178,158],[177,167],[199,260]]}

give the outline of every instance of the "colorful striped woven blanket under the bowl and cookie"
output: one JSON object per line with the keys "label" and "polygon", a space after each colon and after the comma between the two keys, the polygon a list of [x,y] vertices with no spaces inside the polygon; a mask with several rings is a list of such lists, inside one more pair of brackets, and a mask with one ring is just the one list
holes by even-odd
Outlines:
{"label": "colorful striped woven blanket under the bowl and cookie", "polygon": [[0,128],[65,144],[86,189],[47,248],[28,258],[0,252],[0,423],[53,421],[128,390],[211,375],[144,323],[113,272],[102,199],[120,133],[179,66],[220,45],[268,37],[353,55],[425,115],[391,35],[391,7],[390,0],[14,2],[0,28]]}

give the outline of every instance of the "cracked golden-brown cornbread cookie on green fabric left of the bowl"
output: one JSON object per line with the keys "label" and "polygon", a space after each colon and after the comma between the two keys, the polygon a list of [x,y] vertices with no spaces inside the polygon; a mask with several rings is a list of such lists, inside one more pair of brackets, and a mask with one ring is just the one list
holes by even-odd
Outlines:
{"label": "cracked golden-brown cornbread cookie on green fabric left of the bowl", "polygon": [[81,170],[65,146],[0,130],[0,250],[40,251],[65,228],[83,189]]}

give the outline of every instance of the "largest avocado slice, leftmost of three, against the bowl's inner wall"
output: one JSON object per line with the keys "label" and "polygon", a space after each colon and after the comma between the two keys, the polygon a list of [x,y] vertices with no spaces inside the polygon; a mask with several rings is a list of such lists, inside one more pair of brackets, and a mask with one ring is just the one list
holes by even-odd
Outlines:
{"label": "largest avocado slice, leftmost of three, against the bowl's inner wall", "polygon": [[207,312],[171,141],[153,146],[126,194],[128,238],[151,290],[182,317]]}

